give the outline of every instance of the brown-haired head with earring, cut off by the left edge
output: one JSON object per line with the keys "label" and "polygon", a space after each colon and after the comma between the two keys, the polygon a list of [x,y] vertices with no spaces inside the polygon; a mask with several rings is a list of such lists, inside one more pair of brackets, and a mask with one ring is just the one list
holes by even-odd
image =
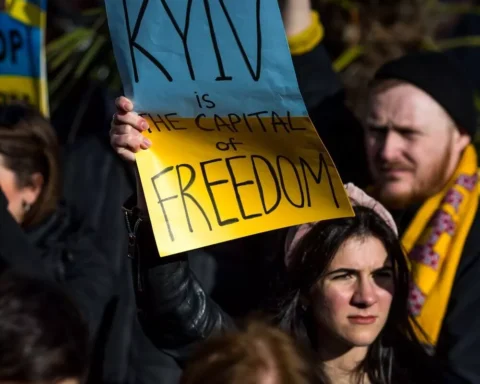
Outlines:
{"label": "brown-haired head with earring, cut off by the left edge", "polygon": [[55,131],[35,109],[0,105],[0,188],[24,227],[44,220],[61,196]]}

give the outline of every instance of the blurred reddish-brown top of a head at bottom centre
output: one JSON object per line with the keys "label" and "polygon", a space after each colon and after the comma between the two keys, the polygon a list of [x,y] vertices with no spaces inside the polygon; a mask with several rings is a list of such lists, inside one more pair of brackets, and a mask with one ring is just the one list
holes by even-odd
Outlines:
{"label": "blurred reddish-brown top of a head at bottom centre", "polygon": [[311,384],[312,372],[288,335],[252,322],[201,344],[180,384]]}

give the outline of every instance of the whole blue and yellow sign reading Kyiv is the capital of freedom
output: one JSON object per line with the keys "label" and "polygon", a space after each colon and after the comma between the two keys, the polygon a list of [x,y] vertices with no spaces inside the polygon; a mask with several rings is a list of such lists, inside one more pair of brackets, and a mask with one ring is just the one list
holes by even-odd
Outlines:
{"label": "whole blue and yellow sign reading Kyiv is the capital of freedom", "polygon": [[300,96],[277,0],[107,0],[161,256],[353,214]]}

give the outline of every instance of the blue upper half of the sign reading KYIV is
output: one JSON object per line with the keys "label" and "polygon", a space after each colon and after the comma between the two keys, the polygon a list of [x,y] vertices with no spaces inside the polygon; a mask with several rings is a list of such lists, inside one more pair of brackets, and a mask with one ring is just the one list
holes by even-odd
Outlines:
{"label": "blue upper half of the sign reading KYIV is", "polygon": [[106,7],[136,110],[307,115],[277,0],[106,0]]}

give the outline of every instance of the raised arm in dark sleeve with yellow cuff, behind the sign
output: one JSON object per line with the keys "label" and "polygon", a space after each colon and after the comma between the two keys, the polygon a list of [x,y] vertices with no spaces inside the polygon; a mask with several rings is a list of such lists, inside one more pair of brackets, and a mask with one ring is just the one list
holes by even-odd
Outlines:
{"label": "raised arm in dark sleeve with yellow cuff, behind the sign", "polygon": [[[312,122],[344,183],[370,183],[362,125],[345,105],[345,92],[324,46],[321,15],[311,0],[283,1],[282,15],[300,92]],[[354,158],[355,161],[351,161]]]}

